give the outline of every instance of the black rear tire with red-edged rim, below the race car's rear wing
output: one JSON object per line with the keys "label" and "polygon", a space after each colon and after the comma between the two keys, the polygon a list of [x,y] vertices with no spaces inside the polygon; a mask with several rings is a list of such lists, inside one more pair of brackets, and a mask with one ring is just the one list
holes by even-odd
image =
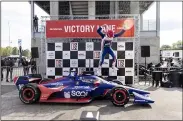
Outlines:
{"label": "black rear tire with red-edged rim, below the race car's rear wing", "polygon": [[39,100],[40,90],[36,85],[24,85],[19,91],[19,98],[25,104],[32,104]]}

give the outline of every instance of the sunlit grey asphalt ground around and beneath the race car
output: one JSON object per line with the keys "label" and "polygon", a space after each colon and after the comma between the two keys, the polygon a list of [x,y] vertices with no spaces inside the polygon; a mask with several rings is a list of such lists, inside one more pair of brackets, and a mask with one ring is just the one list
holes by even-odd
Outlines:
{"label": "sunlit grey asphalt ground around and beneath the race car", "polygon": [[182,88],[139,86],[151,92],[151,105],[115,107],[109,100],[89,104],[23,104],[13,84],[1,85],[2,120],[78,120],[82,111],[99,111],[100,120],[182,120]]}

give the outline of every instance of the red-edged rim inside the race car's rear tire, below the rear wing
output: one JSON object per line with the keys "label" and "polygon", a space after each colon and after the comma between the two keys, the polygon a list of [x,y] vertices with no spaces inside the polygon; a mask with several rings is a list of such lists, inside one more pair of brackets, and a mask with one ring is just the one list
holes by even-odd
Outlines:
{"label": "red-edged rim inside the race car's rear tire, below the rear wing", "polygon": [[23,91],[23,97],[25,100],[30,101],[34,98],[34,91],[30,88],[27,88]]}

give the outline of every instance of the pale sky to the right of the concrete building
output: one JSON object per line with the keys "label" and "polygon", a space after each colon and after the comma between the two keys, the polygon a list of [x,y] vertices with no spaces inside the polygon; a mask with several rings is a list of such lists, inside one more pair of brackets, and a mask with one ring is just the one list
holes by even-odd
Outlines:
{"label": "pale sky to the right of the concrete building", "polygon": [[[156,18],[156,4],[144,15],[144,19]],[[182,40],[182,2],[160,2],[160,46]]]}

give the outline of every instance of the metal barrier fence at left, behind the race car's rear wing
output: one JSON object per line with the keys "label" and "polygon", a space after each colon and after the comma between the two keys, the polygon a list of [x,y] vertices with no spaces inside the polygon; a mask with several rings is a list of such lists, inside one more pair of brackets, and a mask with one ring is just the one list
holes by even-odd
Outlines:
{"label": "metal barrier fence at left, behind the race car's rear wing", "polygon": [[9,67],[1,66],[1,81],[12,81],[16,76],[24,76],[27,74],[38,74],[39,67],[33,66],[21,66],[21,67]]}

